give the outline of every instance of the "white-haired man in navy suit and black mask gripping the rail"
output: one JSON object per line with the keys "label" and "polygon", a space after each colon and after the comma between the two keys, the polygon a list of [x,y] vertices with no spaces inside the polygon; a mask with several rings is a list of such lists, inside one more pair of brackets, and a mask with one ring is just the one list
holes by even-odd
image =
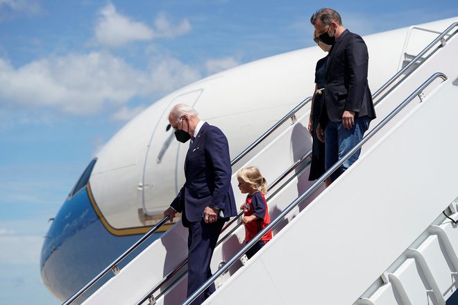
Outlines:
{"label": "white-haired man in navy suit and black mask gripping the rail", "polygon": [[[176,139],[192,140],[185,159],[186,182],[164,217],[170,221],[182,213],[183,226],[189,229],[187,296],[192,295],[212,277],[210,261],[224,222],[237,215],[234,192],[230,185],[232,169],[228,140],[223,132],[202,122],[196,110],[186,104],[174,106],[169,114]],[[201,304],[214,284],[192,302]]]}

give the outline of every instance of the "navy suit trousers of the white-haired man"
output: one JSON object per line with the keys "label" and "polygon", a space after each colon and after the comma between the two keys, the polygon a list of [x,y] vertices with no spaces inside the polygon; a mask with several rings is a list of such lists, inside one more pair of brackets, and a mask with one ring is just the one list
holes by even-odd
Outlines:
{"label": "navy suit trousers of the white-haired man", "polygon": [[[187,276],[187,297],[192,295],[207,279],[212,277],[210,262],[214,248],[217,245],[219,234],[226,220],[217,220],[212,224],[200,222],[189,222],[189,236],[187,239],[188,254],[188,276]],[[202,304],[207,297],[214,292],[214,283],[199,295],[192,305]]]}

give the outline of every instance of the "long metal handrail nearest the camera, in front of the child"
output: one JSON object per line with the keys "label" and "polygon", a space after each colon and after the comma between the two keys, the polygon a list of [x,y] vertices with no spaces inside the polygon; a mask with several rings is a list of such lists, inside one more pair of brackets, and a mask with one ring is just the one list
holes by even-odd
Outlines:
{"label": "long metal handrail nearest the camera, in front of the child", "polygon": [[212,277],[210,277],[210,279],[205,281],[205,283],[203,283],[203,285],[200,288],[198,288],[198,290],[196,290],[192,295],[190,295],[185,300],[185,302],[183,302],[182,305],[189,305],[192,301],[194,301],[194,299],[196,299],[198,295],[200,295],[205,289],[207,289],[223,272],[226,272],[226,270],[228,270],[230,266],[232,266],[237,260],[239,260],[239,258],[241,258],[241,256],[243,256],[245,252],[248,251],[248,249],[250,249],[253,245],[255,245],[255,243],[258,240],[260,240],[262,236],[264,236],[269,230],[271,230],[276,224],[278,224],[278,222],[280,222],[283,219],[283,217],[285,217],[293,208],[295,208],[298,204],[301,204],[307,197],[309,197],[309,195],[311,195],[316,190],[316,188],[318,188],[321,185],[321,183],[325,181],[325,179],[327,179],[335,170],[337,170],[348,158],[350,158],[350,156],[355,154],[355,152],[358,149],[360,149],[362,145],[364,145],[364,143],[366,143],[370,138],[372,138],[372,136],[375,133],[377,133],[380,129],[382,129],[382,127],[385,124],[387,124],[395,115],[397,115],[400,112],[400,110],[402,110],[402,108],[407,106],[407,104],[409,104],[409,102],[412,101],[412,99],[414,99],[421,91],[423,91],[423,89],[425,89],[427,85],[430,85],[432,81],[434,81],[435,79],[439,77],[443,79],[444,81],[447,80],[447,76],[441,72],[437,72],[433,74],[432,76],[430,76],[430,78],[427,79],[427,81],[425,81],[412,94],[410,94],[409,97],[407,97],[407,99],[402,101],[402,103],[399,104],[398,107],[396,107],[393,111],[391,111],[391,113],[389,113],[389,115],[387,115],[387,117],[385,117],[382,120],[382,122],[380,122],[364,138],[362,138],[362,140],[359,141],[358,144],[355,147],[353,147],[353,149],[348,151],[348,154],[343,156],[343,158],[341,158],[329,170],[327,170],[320,177],[320,179],[318,179],[312,186],[310,186],[310,188],[305,190],[299,197],[294,199],[294,201],[292,201],[291,204],[289,204],[289,206],[287,206],[287,208],[285,208],[285,210],[283,210],[282,213],[280,213],[280,215],[275,217],[275,219],[271,221],[270,224],[268,224],[266,227],[264,227],[264,229],[262,229],[259,233],[257,233],[257,235],[252,240],[250,240],[250,242],[247,242],[245,247],[243,247],[239,252],[237,252],[237,254],[235,254],[235,256],[233,256],[230,259],[230,261],[228,261],[225,265],[219,268],[219,270],[217,270],[217,272],[215,272],[212,275]]}

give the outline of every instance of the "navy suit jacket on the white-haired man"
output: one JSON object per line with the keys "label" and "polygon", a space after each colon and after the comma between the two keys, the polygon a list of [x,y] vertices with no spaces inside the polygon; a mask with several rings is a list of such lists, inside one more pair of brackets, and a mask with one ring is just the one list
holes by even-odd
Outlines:
{"label": "navy suit jacket on the white-haired man", "polygon": [[187,226],[188,221],[200,222],[207,206],[218,208],[222,218],[237,215],[231,174],[226,135],[204,123],[187,151],[185,185],[171,203],[171,207],[183,213],[183,225]]}

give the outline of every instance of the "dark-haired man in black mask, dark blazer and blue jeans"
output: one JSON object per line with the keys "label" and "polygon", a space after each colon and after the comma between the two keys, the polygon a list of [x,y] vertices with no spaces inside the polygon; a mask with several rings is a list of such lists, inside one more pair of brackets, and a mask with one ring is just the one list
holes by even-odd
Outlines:
{"label": "dark-haired man in black mask, dark blazer and blue jeans", "polygon": [[[369,57],[364,40],[343,27],[337,11],[321,8],[312,15],[310,22],[319,39],[332,45],[326,63],[325,110],[316,128],[319,139],[325,142],[325,167],[329,170],[362,140],[371,119],[375,119],[367,81]],[[360,151],[330,176],[331,181],[355,163]]]}

